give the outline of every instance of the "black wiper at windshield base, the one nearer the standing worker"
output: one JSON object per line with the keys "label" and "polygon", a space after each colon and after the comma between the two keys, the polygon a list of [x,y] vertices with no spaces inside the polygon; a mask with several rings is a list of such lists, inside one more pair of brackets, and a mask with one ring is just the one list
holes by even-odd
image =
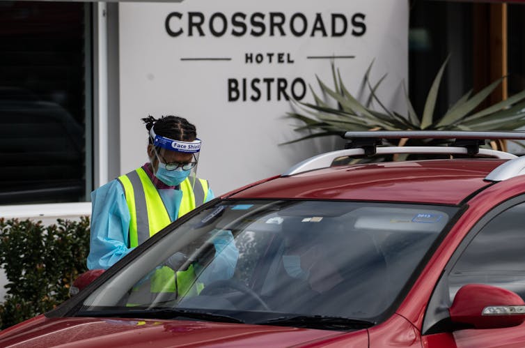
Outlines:
{"label": "black wiper at windshield base, the one nearer the standing worker", "polygon": [[83,311],[79,317],[120,317],[120,318],[145,318],[145,319],[177,319],[180,317],[205,321],[219,321],[223,323],[239,323],[244,321],[228,315],[198,310],[183,310],[177,308],[147,309],[147,310],[97,310]]}

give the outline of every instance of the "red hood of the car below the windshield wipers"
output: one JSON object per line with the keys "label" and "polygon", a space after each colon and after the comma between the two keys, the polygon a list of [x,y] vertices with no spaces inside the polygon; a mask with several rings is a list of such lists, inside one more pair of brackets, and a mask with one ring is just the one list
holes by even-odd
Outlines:
{"label": "red hood of the car below the windshield wipers", "polygon": [[[366,330],[362,331],[366,335]],[[289,347],[344,334],[207,321],[41,315],[1,331],[0,347]]]}

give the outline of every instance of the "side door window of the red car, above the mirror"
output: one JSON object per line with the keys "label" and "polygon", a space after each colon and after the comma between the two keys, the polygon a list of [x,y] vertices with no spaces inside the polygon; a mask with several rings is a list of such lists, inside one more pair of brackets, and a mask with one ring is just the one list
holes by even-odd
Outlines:
{"label": "side door window of the red car, above the mirror", "polygon": [[479,283],[525,298],[525,203],[503,211],[473,238],[448,276],[450,301],[463,285]]}

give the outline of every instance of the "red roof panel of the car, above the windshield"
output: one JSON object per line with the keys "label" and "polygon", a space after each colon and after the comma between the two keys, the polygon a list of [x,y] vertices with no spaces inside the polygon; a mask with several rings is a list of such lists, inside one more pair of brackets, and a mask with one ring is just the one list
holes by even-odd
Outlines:
{"label": "red roof panel of the car, above the windshield", "polygon": [[256,183],[230,198],[350,199],[461,204],[487,186],[494,158],[375,162],[316,169]]}

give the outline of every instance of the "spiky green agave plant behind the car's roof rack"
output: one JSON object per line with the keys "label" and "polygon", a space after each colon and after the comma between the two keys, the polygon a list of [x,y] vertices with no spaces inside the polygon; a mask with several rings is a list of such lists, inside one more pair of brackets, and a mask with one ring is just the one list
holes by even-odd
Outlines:
{"label": "spiky green agave plant behind the car's roof rack", "polygon": [[[309,86],[314,103],[302,103],[294,100],[295,111],[287,114],[288,117],[304,123],[295,130],[298,132],[307,130],[309,134],[284,144],[313,137],[340,136],[350,130],[516,130],[525,126],[525,91],[485,109],[477,110],[483,100],[501,84],[505,77],[489,84],[473,96],[472,90],[465,93],[444,114],[434,114],[439,84],[441,84],[448,59],[449,57],[441,65],[434,82],[432,82],[421,115],[414,111],[404,85],[407,114],[399,114],[385,107],[384,103],[377,97],[376,91],[386,78],[386,74],[375,84],[370,82],[370,70],[373,64],[370,64],[363,77],[363,83],[370,92],[368,99],[365,103],[359,102],[347,90],[339,70],[332,63],[334,89],[327,86],[316,75],[322,93],[329,100],[325,101],[320,98],[313,91],[312,86]],[[334,102],[336,107],[332,106]],[[379,110],[371,107],[373,103],[379,106],[377,108]],[[443,142],[443,140],[434,139],[401,139],[396,145],[432,145]],[[499,142],[499,146],[498,144],[492,144],[492,146],[501,147],[501,144],[502,142]],[[519,142],[517,144],[525,147]]]}

